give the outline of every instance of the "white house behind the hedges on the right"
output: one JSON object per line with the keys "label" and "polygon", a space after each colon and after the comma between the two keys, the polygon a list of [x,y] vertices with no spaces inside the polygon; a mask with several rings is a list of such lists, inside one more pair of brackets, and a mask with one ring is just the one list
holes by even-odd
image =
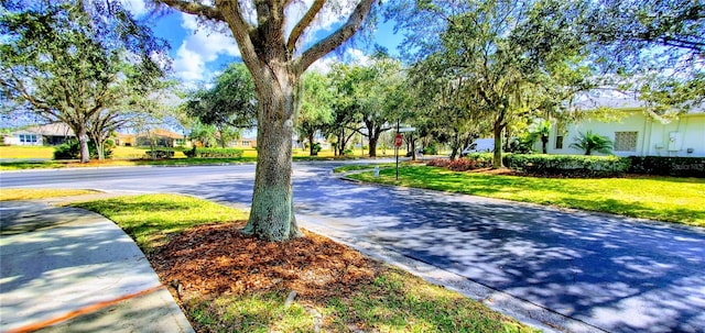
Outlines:
{"label": "white house behind the hedges on the right", "polygon": [[[593,131],[612,141],[617,156],[705,157],[705,108],[665,119],[646,112],[643,102],[625,93],[581,101],[583,110],[608,107],[618,120],[588,118],[570,124],[554,124],[549,154],[583,154],[571,148],[578,133]],[[588,111],[589,112],[589,111]],[[541,143],[536,145],[541,151]]]}

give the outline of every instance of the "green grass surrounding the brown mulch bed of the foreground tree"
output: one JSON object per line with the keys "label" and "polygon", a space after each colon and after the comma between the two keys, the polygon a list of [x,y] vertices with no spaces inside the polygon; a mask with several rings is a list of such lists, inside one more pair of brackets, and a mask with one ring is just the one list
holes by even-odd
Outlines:
{"label": "green grass surrounding the brown mulch bed of the foreground tree", "polygon": [[[158,253],[154,249],[171,236],[194,226],[247,218],[242,211],[174,195],[118,197],[72,206],[111,219],[145,253]],[[251,256],[249,251],[243,246],[232,256]],[[315,322],[322,317],[329,332],[348,332],[351,326],[366,332],[535,332],[459,293],[399,269],[389,268],[371,285],[343,292],[343,297],[294,300],[289,307],[284,302],[286,293],[281,291],[246,291],[237,296],[224,292],[184,301],[184,308],[192,322],[214,332],[314,332]]]}

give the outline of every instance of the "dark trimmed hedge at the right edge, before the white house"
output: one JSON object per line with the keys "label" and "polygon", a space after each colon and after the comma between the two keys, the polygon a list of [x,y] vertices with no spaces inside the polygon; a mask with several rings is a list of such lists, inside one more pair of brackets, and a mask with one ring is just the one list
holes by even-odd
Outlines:
{"label": "dark trimmed hedge at the right edge, before the white house", "polygon": [[705,157],[631,156],[629,173],[705,178]]}

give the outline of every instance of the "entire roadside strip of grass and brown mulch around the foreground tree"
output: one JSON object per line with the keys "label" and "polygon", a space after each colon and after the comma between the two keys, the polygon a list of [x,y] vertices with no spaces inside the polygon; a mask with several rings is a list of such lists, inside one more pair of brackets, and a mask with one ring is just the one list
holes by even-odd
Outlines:
{"label": "entire roadside strip of grass and brown mulch around the foreground tree", "polygon": [[534,332],[316,234],[242,235],[246,212],[209,201],[147,195],[75,206],[137,240],[197,332]]}

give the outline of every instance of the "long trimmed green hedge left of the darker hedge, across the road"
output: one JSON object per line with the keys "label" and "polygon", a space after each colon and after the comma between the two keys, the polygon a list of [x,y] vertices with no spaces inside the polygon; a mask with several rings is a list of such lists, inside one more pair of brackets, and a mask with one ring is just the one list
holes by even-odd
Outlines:
{"label": "long trimmed green hedge left of the darker hedge, across the road", "polygon": [[611,177],[629,171],[630,160],[617,156],[507,154],[505,165],[539,176]]}

